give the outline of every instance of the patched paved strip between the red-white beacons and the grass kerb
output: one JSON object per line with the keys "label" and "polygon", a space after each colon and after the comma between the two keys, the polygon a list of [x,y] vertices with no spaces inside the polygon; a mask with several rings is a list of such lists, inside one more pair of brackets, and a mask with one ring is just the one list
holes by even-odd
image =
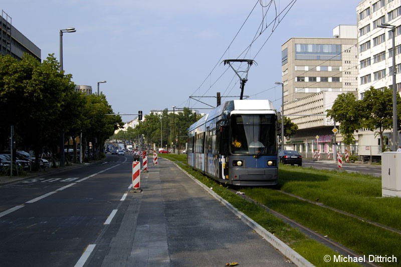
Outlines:
{"label": "patched paved strip between the red-white beacons and the grass kerb", "polygon": [[[140,187],[142,192],[129,192],[125,212],[100,237],[85,266],[294,266],[173,163],[160,159],[150,166]],[[311,265],[285,249],[297,265]]]}

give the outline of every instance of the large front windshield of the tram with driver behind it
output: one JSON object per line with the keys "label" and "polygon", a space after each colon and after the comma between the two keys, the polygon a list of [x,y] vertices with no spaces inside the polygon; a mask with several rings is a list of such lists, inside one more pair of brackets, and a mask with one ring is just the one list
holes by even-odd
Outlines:
{"label": "large front windshield of the tram with driver behind it", "polygon": [[277,154],[276,116],[232,115],[231,152],[233,154]]}

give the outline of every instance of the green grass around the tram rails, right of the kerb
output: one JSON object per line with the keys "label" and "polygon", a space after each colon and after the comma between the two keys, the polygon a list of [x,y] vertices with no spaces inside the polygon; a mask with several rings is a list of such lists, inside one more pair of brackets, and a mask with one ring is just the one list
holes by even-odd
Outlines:
{"label": "green grass around the tram rails, right of the kerb", "polygon": [[[164,155],[163,155],[164,157]],[[328,266],[324,255],[337,254],[311,240],[299,230],[276,218],[257,204],[249,203],[186,165],[186,155],[167,155],[185,171],[200,180],[220,196],[269,232],[275,234],[316,266]],[[381,180],[361,174],[321,171],[280,165],[279,188],[311,201],[355,214],[389,227],[400,229],[401,199],[382,198]],[[327,235],[361,255],[394,255],[401,260],[401,235],[356,218],[311,204],[267,187],[241,188],[246,196],[285,214],[287,217]],[[334,264],[334,263],[332,263]],[[341,266],[347,266],[345,263]],[[352,264],[349,264],[352,265]],[[389,266],[391,263],[382,263]]]}

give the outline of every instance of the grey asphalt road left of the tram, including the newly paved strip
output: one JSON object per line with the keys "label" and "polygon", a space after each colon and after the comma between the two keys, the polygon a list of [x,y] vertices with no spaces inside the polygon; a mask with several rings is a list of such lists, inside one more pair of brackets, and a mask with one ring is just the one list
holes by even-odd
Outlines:
{"label": "grey asphalt road left of the tram, including the newly paved strip", "polygon": [[0,187],[2,266],[294,266],[172,163],[131,156]]}

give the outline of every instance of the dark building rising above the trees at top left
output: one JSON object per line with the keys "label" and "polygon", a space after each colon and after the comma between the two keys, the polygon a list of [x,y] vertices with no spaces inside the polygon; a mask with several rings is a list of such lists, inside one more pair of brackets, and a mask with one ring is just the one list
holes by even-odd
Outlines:
{"label": "dark building rising above the trees at top left", "polygon": [[11,17],[2,10],[1,53],[21,60],[25,53],[41,61],[41,50],[12,25]]}

